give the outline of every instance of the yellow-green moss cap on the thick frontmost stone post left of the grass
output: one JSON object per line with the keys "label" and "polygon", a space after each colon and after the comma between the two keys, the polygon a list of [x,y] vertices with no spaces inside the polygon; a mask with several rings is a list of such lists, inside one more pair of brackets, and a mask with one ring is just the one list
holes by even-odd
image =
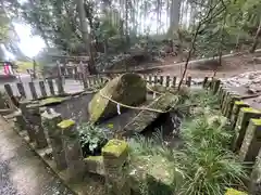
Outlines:
{"label": "yellow-green moss cap on the thick frontmost stone post left of the grass", "polygon": [[110,140],[104,147],[102,147],[102,155],[109,154],[115,157],[120,157],[122,154],[127,152],[128,145],[122,140]]}

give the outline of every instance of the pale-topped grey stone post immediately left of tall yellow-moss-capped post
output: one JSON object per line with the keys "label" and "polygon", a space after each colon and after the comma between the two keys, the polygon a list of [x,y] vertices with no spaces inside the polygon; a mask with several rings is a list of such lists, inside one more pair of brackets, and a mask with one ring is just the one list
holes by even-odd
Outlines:
{"label": "pale-topped grey stone post immediately left of tall yellow-moss-capped post", "polygon": [[44,114],[41,114],[41,118],[42,127],[48,132],[48,136],[52,148],[52,155],[57,164],[57,168],[59,170],[65,169],[67,167],[67,164],[61,138],[62,132],[57,127],[58,123],[62,121],[62,117],[60,114],[55,112],[47,110]]}

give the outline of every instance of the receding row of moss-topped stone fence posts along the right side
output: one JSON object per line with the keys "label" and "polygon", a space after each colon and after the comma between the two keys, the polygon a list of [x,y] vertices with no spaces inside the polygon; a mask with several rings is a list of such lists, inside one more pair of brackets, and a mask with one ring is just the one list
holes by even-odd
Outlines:
{"label": "receding row of moss-topped stone fence posts along the right side", "polygon": [[233,152],[251,169],[249,194],[261,194],[261,110],[251,107],[244,96],[219,79],[213,78],[204,87],[219,96],[222,114],[235,131]]}

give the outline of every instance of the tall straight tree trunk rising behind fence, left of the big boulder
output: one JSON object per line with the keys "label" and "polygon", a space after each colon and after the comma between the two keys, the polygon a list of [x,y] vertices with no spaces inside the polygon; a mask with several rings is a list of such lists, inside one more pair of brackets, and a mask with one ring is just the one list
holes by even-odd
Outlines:
{"label": "tall straight tree trunk rising behind fence, left of the big boulder", "polygon": [[78,16],[79,16],[79,23],[82,27],[82,34],[83,34],[83,39],[85,43],[85,49],[87,54],[89,55],[90,60],[88,63],[88,70],[90,75],[97,74],[97,69],[95,67],[95,62],[91,53],[91,47],[90,47],[90,40],[89,40],[89,35],[88,35],[88,25],[86,21],[86,13],[85,13],[85,6],[84,6],[84,1],[83,0],[76,0],[77,4],[77,10],[78,10]]}

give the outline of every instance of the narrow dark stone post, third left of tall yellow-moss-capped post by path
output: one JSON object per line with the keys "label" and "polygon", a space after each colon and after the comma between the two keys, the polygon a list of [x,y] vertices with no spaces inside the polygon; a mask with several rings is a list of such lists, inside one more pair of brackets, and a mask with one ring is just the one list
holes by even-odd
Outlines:
{"label": "narrow dark stone post, third left of tall yellow-moss-capped post by path", "polygon": [[28,112],[26,106],[29,104],[29,101],[22,101],[20,102],[20,108],[23,115],[23,118],[25,120],[26,127],[25,130],[27,131],[28,138],[29,138],[29,142],[34,142],[35,141],[35,131],[30,125],[30,122],[28,121]]}

